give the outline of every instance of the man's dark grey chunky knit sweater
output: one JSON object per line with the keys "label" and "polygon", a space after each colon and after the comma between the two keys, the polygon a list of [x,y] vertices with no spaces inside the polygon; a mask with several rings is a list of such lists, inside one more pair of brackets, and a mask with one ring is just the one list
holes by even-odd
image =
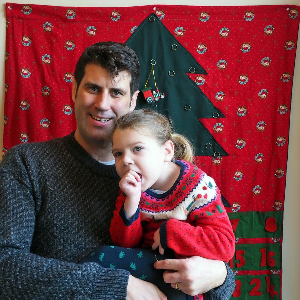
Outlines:
{"label": "man's dark grey chunky knit sweater", "polygon": [[[74,134],[11,148],[0,164],[0,299],[126,299],[129,272],[78,264],[111,244],[119,192],[114,166],[100,164]],[[227,299],[226,282],[206,294]]]}

